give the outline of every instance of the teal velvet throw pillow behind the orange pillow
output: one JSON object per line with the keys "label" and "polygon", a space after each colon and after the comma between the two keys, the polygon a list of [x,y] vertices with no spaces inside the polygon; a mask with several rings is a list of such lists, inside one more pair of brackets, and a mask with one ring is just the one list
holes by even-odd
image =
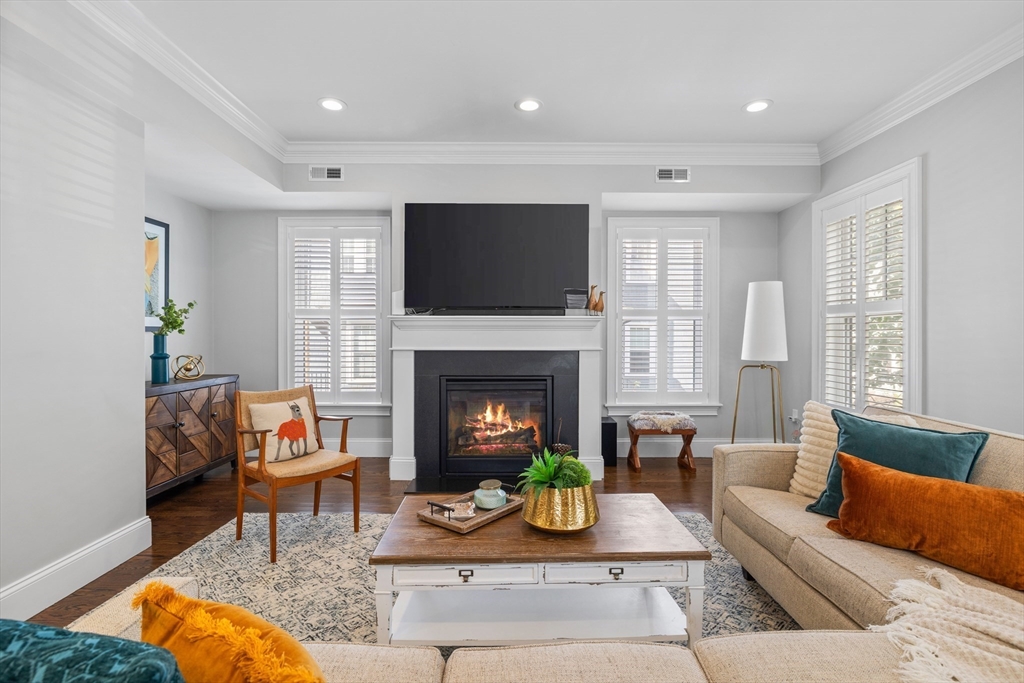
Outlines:
{"label": "teal velvet throw pillow behind the orange pillow", "polygon": [[[843,411],[833,411],[839,426],[837,451],[909,474],[967,481],[988,441],[985,432],[950,434],[933,429],[876,422]],[[808,512],[839,517],[843,504],[843,468],[833,455],[825,489]]]}

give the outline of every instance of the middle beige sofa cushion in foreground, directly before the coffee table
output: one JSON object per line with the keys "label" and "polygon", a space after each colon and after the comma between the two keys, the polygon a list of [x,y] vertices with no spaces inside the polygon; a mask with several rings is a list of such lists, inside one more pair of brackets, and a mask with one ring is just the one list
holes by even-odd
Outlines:
{"label": "middle beige sofa cushion in foreground, directly before the coffee table", "polygon": [[444,667],[444,683],[707,683],[693,653],[660,643],[587,642],[463,647]]}

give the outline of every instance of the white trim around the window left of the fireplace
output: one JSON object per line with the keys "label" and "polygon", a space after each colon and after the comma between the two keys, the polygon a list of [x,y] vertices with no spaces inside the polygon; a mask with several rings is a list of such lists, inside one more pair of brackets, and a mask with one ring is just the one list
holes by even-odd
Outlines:
{"label": "white trim around the window left of the fireplace", "polygon": [[288,279],[291,263],[289,259],[289,244],[297,228],[305,227],[377,227],[381,231],[381,292],[377,309],[377,325],[380,334],[377,342],[377,359],[380,369],[381,393],[378,400],[366,402],[325,402],[317,401],[316,408],[324,415],[354,415],[391,414],[391,326],[388,312],[391,302],[391,219],[387,216],[359,217],[281,217],[278,219],[278,387],[280,389],[292,386],[289,374],[289,326],[288,321],[294,313],[295,301],[288,295]]}

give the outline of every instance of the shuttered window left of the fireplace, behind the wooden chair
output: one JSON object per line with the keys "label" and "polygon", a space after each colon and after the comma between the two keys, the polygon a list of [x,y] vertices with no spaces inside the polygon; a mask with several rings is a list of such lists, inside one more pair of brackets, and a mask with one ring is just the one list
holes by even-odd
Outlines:
{"label": "shuttered window left of the fireplace, behind the wooden chair", "polygon": [[386,403],[386,218],[283,218],[282,387],[325,404]]}

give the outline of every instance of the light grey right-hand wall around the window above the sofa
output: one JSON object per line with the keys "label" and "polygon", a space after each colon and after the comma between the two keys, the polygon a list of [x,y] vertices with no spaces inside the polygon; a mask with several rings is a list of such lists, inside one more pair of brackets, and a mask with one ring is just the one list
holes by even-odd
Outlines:
{"label": "light grey right-hand wall around the window above the sofa", "polygon": [[[923,157],[924,412],[1017,433],[1024,432],[1022,100],[1018,59],[824,164],[819,195]],[[813,199],[779,214],[795,360],[810,357]],[[810,362],[790,365],[785,392],[802,404],[811,397]]]}

